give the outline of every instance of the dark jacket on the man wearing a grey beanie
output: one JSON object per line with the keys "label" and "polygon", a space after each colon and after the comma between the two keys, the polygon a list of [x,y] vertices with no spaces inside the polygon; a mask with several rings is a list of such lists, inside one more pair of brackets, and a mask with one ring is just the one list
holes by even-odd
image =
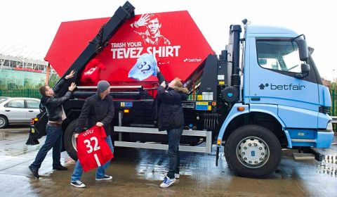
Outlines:
{"label": "dark jacket on the man wearing a grey beanie", "polygon": [[98,94],[86,98],[84,106],[77,120],[75,133],[81,133],[93,127],[97,122],[102,122],[107,136],[110,135],[111,122],[114,119],[114,102],[112,96],[107,95],[101,99]]}

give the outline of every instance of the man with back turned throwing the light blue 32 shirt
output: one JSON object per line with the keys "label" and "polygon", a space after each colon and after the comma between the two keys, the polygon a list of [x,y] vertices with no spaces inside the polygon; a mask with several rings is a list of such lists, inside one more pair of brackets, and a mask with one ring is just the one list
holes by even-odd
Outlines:
{"label": "man with back turned throwing the light blue 32 shirt", "polygon": [[169,139],[169,172],[164,177],[160,187],[171,186],[179,176],[179,144],[180,136],[183,134],[184,114],[181,101],[187,100],[189,91],[183,87],[179,78],[175,78],[169,84],[165,83],[164,76],[158,69],[157,77],[160,86],[157,89],[157,99],[159,105],[158,129],[167,131]]}

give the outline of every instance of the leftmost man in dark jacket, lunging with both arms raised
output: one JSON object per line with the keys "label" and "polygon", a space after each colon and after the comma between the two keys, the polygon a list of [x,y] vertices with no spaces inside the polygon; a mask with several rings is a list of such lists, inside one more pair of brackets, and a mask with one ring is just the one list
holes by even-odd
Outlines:
{"label": "leftmost man in dark jacket, lunging with both arms raised", "polygon": [[[72,70],[69,75],[65,76],[65,80],[74,77],[74,73],[74,70]],[[51,148],[53,148],[53,170],[67,170],[67,167],[63,167],[60,163],[63,133],[62,121],[66,118],[65,110],[63,110],[62,104],[70,98],[76,84],[73,82],[70,85],[69,91],[67,91],[65,96],[55,96],[55,94],[57,94],[60,90],[60,87],[65,84],[65,80],[60,80],[53,89],[51,89],[48,85],[44,85],[39,89],[42,95],[41,105],[46,107],[48,123],[46,125],[46,141],[40,148],[39,153],[37,153],[37,157],[34,162],[29,165],[30,171],[32,171],[34,177],[37,179],[39,179],[38,171],[41,167],[41,163],[44,161],[44,158],[46,158],[46,155]]]}

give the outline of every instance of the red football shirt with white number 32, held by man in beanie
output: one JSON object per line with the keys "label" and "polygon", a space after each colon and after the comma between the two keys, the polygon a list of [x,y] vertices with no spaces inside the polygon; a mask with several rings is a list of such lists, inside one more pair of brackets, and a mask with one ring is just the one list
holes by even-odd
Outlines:
{"label": "red football shirt with white number 32, held by man in beanie", "polygon": [[77,157],[84,172],[104,165],[114,158],[105,141],[107,135],[103,127],[93,126],[77,137]]}

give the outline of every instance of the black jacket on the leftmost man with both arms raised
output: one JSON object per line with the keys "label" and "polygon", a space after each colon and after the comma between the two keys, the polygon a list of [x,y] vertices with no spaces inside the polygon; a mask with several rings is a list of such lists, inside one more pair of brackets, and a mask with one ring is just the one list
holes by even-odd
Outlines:
{"label": "black jacket on the leftmost man with both arms raised", "polygon": [[65,80],[60,80],[53,88],[55,96],[43,96],[41,98],[41,105],[46,107],[48,120],[55,122],[62,122],[62,104],[67,101],[72,95],[72,91],[67,91],[65,96],[58,97],[60,87],[65,84]]}

